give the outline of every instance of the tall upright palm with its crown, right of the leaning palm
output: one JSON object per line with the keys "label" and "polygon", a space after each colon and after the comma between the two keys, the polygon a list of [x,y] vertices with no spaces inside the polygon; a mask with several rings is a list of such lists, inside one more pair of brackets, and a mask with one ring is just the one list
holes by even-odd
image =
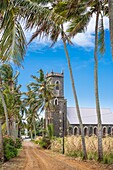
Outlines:
{"label": "tall upright palm with its crown, right of the leaning palm", "polygon": [[[74,1],[72,1],[74,2]],[[90,7],[90,10],[86,12],[86,14],[82,13],[78,18],[72,18],[72,23],[69,26],[68,32],[70,32],[71,36],[76,35],[79,31],[84,30],[84,25],[81,27],[81,24],[84,22],[87,26],[92,14],[96,14],[96,26],[95,26],[95,50],[94,50],[94,87],[95,87],[95,99],[96,99],[96,111],[97,111],[97,118],[98,118],[98,160],[103,159],[103,149],[102,149],[102,124],[101,124],[101,112],[100,112],[100,103],[99,103],[99,91],[98,91],[98,47],[101,54],[104,53],[104,25],[103,25],[103,16],[106,13],[105,7],[106,1],[87,1],[87,7]],[[86,3],[84,4],[86,5]],[[73,8],[73,7],[72,7]],[[74,9],[70,9],[71,12]],[[101,17],[101,24],[99,26],[99,16]],[[100,29],[100,31],[99,31]],[[98,36],[99,35],[99,36]]]}

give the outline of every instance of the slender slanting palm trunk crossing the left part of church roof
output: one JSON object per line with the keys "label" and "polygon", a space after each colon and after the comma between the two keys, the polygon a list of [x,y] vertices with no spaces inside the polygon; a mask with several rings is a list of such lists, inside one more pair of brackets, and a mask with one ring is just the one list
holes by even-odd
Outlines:
{"label": "slender slanting palm trunk crossing the left part of church roof", "polygon": [[69,57],[69,53],[67,50],[66,41],[65,41],[65,38],[63,35],[62,35],[62,40],[63,40],[64,50],[65,50],[67,62],[68,62],[68,68],[69,68],[69,73],[70,73],[70,78],[71,78],[71,83],[72,83],[72,89],[73,89],[73,93],[74,93],[74,100],[75,100],[75,105],[76,105],[76,110],[77,110],[77,116],[78,116],[78,120],[79,120],[79,124],[80,124],[80,128],[81,128],[83,159],[87,159],[84,129],[83,129],[82,119],[81,119],[81,115],[80,115],[80,108],[79,108],[77,93],[76,93],[76,89],[75,89],[75,83],[74,83],[74,78],[73,78],[73,73],[72,73],[72,68],[71,68],[71,63],[70,63],[70,57]]}

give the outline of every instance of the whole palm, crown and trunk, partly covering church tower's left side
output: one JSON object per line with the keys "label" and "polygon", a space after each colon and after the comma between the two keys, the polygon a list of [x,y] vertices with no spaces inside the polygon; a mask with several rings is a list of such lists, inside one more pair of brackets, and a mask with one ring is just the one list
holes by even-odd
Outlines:
{"label": "whole palm, crown and trunk, partly covering church tower's left side", "polygon": [[[45,109],[51,109],[53,94],[53,85],[49,84],[50,79],[46,79],[43,70],[39,70],[39,77],[32,76],[34,82],[28,85],[28,92],[26,92],[26,98],[24,102],[29,107],[27,114],[28,123],[31,122],[30,133],[32,137],[32,130],[35,132],[36,137],[36,119],[38,119],[38,113],[42,113]],[[32,129],[33,128],[33,129]]]}

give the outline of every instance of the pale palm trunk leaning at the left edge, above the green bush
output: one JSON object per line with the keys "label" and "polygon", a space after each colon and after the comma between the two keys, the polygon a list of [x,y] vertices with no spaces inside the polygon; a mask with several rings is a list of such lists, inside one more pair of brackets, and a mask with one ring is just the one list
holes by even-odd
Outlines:
{"label": "pale palm trunk leaning at the left edge, above the green bush", "polygon": [[5,104],[5,100],[4,100],[4,96],[0,90],[0,97],[2,99],[2,104],[3,104],[3,108],[4,108],[4,114],[5,114],[5,119],[6,119],[6,130],[7,130],[7,135],[10,135],[10,132],[9,132],[9,122],[8,122],[8,114],[7,114],[7,107],[6,107],[6,104]]}

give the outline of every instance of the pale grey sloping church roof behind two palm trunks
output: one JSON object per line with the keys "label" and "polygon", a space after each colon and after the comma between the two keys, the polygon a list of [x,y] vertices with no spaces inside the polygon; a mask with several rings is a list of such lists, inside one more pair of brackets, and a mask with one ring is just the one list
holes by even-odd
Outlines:
{"label": "pale grey sloping church roof behind two palm trunks", "polygon": [[[80,108],[83,124],[97,124],[95,108]],[[70,124],[79,124],[75,107],[67,108],[67,118]],[[113,113],[110,109],[101,109],[102,124],[113,124]]]}

